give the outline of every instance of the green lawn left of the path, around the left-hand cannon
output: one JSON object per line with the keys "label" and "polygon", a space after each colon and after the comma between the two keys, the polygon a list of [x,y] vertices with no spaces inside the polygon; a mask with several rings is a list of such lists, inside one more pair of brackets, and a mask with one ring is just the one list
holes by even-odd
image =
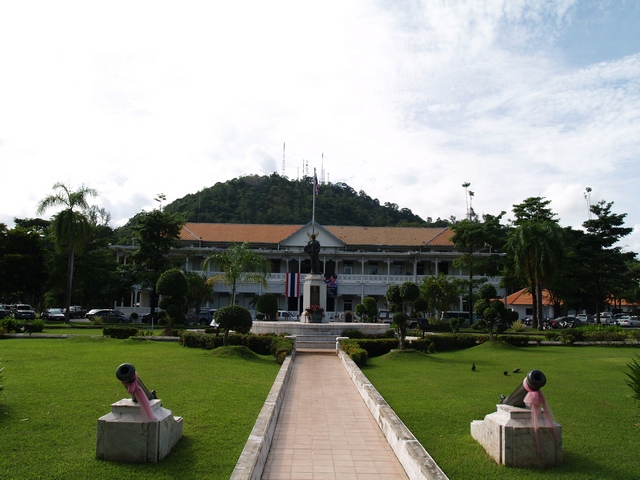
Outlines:
{"label": "green lawn left of the path, around the left-hand cannon", "polygon": [[[95,458],[98,418],[128,397],[115,377],[121,363],[184,418],[184,437],[158,464]],[[227,479],[280,369],[237,347],[85,336],[0,340],[1,367],[3,479]]]}

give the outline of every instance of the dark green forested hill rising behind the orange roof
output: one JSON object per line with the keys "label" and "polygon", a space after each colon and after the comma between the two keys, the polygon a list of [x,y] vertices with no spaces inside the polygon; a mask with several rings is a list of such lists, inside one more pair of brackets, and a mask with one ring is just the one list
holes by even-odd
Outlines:
{"label": "dark green forested hill rising behind the orange roof", "polygon": [[[216,183],[165,206],[188,222],[298,225],[311,221],[313,178],[289,180],[273,173]],[[345,183],[323,183],[316,196],[316,222],[370,227],[445,227],[447,220],[423,220],[408,208],[380,204]]]}

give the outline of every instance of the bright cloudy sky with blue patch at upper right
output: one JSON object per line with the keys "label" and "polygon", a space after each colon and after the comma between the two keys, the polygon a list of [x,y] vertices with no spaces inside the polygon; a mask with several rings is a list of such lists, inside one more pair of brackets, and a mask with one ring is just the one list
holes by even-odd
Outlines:
{"label": "bright cloudy sky with blue patch at upper right", "polygon": [[614,202],[640,252],[638,25],[638,0],[0,2],[0,222],[56,182],[118,227],[315,169],[423,219],[464,218],[467,182],[507,219]]}

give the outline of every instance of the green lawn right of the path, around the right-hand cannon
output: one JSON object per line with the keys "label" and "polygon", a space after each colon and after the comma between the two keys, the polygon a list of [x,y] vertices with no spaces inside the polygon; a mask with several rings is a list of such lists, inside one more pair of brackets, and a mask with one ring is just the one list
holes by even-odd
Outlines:
{"label": "green lawn right of the path, around the right-hand cannon", "polygon": [[[363,372],[451,479],[638,480],[640,404],[624,381],[626,364],[638,353],[487,343],[431,355],[392,352],[369,359]],[[542,391],[562,425],[564,464],[499,466],[471,437],[470,423],[493,413],[500,394],[509,395],[533,369],[547,377]]]}

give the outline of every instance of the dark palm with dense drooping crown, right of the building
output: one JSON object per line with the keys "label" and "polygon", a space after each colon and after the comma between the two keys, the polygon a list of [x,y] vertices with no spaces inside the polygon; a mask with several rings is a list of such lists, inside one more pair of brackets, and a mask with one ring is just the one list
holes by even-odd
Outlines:
{"label": "dark palm with dense drooping crown, right of the building", "polygon": [[516,274],[529,284],[534,321],[542,329],[542,294],[563,258],[562,228],[554,221],[524,222],[509,242]]}

